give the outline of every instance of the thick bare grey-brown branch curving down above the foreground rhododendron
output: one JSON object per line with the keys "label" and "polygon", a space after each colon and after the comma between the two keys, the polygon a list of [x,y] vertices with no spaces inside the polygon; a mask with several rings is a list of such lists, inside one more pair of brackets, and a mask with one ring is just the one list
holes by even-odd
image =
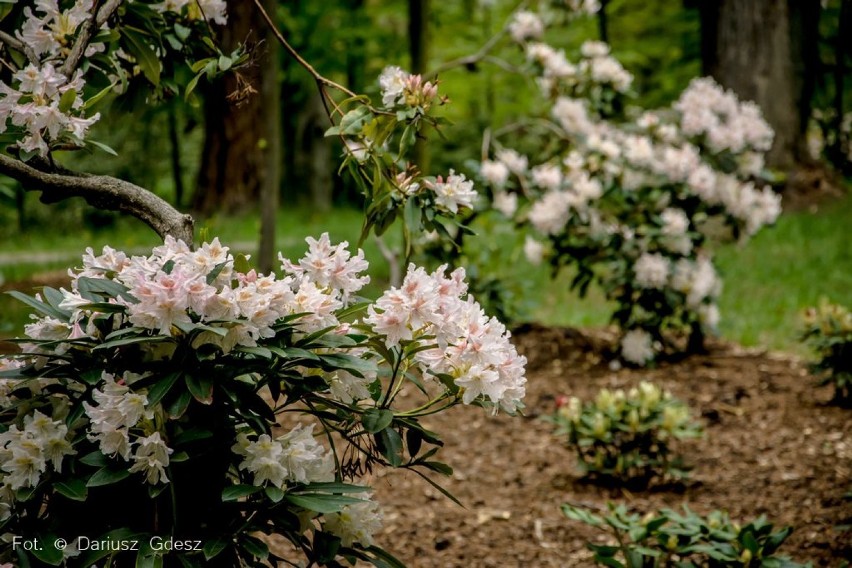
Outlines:
{"label": "thick bare grey-brown branch curving down above the foreground rhododendron", "polygon": [[160,237],[171,235],[192,244],[194,221],[145,188],[110,176],[63,170],[45,172],[0,154],[0,174],[18,180],[27,191],[42,192],[44,203],[82,197],[99,209],[128,213],[154,229]]}

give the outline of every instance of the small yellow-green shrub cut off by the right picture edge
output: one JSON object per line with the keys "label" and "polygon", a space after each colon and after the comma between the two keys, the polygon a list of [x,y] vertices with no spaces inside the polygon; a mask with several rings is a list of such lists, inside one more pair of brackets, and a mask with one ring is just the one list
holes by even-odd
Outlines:
{"label": "small yellow-green shrub cut off by the right picture edge", "polygon": [[823,302],[803,317],[802,340],[817,356],[811,370],[820,385],[834,385],[834,399],[852,405],[852,312]]}

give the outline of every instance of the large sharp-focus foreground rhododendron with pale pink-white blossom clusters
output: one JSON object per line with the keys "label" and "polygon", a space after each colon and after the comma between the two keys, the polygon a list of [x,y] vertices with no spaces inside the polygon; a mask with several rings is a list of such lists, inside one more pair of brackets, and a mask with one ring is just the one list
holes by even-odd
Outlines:
{"label": "large sharp-focus foreground rhododendron with pale pink-white blossom clusters", "polygon": [[[0,561],[261,566],[280,559],[256,535],[275,533],[309,564],[398,565],[373,542],[370,488],[351,482],[376,466],[451,472],[420,418],[515,412],[525,360],[463,269],[409,266],[369,303],[361,251],[307,242],[280,276],[218,239],[88,249],[70,290],[13,293],[38,315],[0,371],[0,529],[72,546]],[[401,408],[406,385],[422,404]],[[81,536],[143,546],[75,550]],[[157,536],[199,546],[145,544]]]}

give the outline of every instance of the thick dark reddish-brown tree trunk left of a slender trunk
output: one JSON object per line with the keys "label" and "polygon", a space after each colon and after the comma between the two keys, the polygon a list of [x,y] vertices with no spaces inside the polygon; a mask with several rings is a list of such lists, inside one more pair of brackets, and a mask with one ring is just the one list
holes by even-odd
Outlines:
{"label": "thick dark reddish-brown tree trunk left of a slender trunk", "polygon": [[[251,0],[228,0],[222,51],[227,53],[241,43],[256,46],[264,28]],[[260,73],[255,65],[210,85],[204,97],[205,138],[193,200],[196,211],[234,213],[257,202],[265,164],[259,146],[268,111],[255,93],[263,90],[263,82],[276,80],[276,75]]]}

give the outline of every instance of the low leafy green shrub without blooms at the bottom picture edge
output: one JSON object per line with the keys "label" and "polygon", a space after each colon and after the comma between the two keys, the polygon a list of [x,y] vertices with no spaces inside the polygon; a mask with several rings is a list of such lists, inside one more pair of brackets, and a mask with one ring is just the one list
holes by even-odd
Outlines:
{"label": "low leafy green shrub without blooms at the bottom picture edge", "polygon": [[609,504],[609,514],[596,515],[582,507],[562,505],[569,519],[605,530],[617,544],[587,546],[595,561],[613,568],[806,568],[787,556],[776,556],[792,532],[784,527],[773,532],[761,515],[745,526],[732,523],[727,513],[713,511],[706,517],[684,506],[683,513],[663,509],[640,517],[624,505]]}

